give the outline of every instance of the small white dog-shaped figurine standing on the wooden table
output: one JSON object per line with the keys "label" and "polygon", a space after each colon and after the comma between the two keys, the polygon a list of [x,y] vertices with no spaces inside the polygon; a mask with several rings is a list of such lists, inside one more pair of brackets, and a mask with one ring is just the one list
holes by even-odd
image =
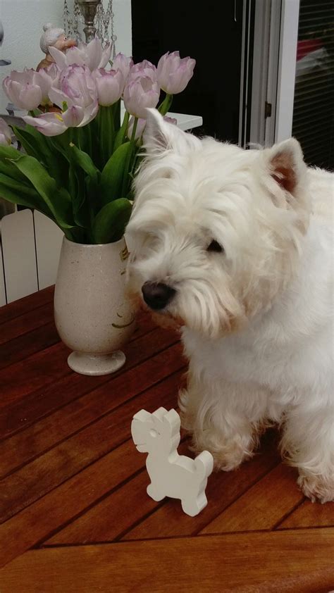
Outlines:
{"label": "small white dog-shaped figurine standing on the wooden table", "polygon": [[148,452],[146,466],[151,483],[147,494],[155,501],[181,499],[183,511],[194,517],[207,504],[206,483],[214,468],[209,451],[192,459],[178,454],[180,416],[173,408],[154,413],[140,410],[133,416],[131,434],[137,450]]}

